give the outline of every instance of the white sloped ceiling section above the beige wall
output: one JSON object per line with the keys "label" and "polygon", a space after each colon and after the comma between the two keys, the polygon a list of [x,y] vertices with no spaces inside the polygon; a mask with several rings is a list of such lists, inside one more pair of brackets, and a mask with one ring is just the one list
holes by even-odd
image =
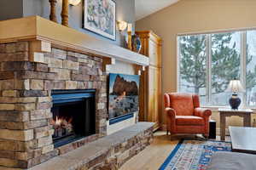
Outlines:
{"label": "white sloped ceiling section above the beige wall", "polygon": [[179,0],[135,0],[136,20],[141,20]]}

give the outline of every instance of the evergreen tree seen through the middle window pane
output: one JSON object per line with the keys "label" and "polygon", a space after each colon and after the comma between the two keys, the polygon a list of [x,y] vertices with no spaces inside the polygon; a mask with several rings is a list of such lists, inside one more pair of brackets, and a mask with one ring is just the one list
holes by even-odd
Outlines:
{"label": "evergreen tree seen through the middle window pane", "polygon": [[230,46],[232,33],[212,35],[212,92],[222,93],[230,80],[239,79],[240,54],[236,42]]}

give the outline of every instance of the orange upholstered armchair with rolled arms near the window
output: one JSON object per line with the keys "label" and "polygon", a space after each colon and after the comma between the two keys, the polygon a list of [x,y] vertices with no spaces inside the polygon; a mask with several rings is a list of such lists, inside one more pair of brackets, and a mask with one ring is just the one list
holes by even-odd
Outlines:
{"label": "orange upholstered armchair with rolled arms near the window", "polygon": [[200,108],[199,96],[195,94],[165,94],[167,134],[202,133],[209,136],[209,117],[212,111]]}

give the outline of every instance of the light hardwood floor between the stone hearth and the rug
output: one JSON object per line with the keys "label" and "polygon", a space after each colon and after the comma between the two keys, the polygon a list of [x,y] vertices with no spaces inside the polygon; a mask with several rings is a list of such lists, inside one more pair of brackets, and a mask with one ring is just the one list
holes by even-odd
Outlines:
{"label": "light hardwood floor between the stone hearth and the rug", "polygon": [[[166,135],[166,132],[159,131],[154,133],[153,143],[150,144],[145,150],[132,157],[129,161],[120,168],[120,170],[158,170],[167,156],[177,145],[179,139],[203,139],[201,135],[195,136],[174,136]],[[217,140],[220,137],[217,136]],[[226,136],[226,141],[230,141],[230,136]]]}

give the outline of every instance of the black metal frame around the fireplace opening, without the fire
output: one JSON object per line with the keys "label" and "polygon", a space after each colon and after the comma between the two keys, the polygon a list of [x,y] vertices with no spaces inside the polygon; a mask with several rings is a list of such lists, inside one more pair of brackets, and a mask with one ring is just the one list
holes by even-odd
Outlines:
{"label": "black metal frame around the fireplace opening, without the fire", "polygon": [[[64,144],[72,143],[73,141],[83,139],[84,137],[96,134],[96,89],[76,89],[76,90],[53,90],[51,93],[53,108],[55,105],[68,104],[72,102],[84,102],[85,111],[90,107],[90,119],[94,120],[94,122],[90,122],[90,132],[87,133],[86,129],[84,129],[84,134],[79,135],[75,138],[66,139],[63,141],[55,141],[55,148],[60,147]],[[88,105],[86,103],[86,99],[93,99],[94,105]],[[52,108],[52,110],[53,110]],[[88,121],[88,120],[84,120]],[[86,123],[84,122],[84,123]],[[85,125],[86,126],[86,125]]]}

